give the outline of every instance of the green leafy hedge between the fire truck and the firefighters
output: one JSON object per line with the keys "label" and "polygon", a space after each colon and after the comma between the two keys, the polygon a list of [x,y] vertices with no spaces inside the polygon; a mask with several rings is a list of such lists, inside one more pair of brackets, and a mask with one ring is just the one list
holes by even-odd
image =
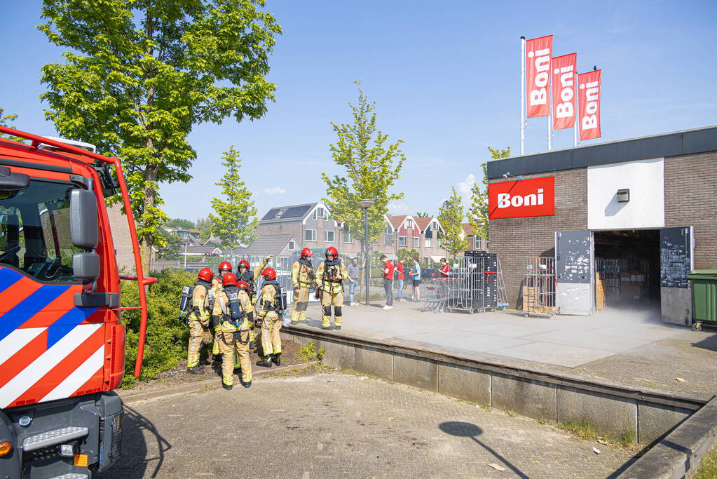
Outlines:
{"label": "green leafy hedge between the fire truck and the firefighters", "polygon": [[[166,369],[171,369],[186,357],[189,330],[179,318],[179,297],[181,289],[193,285],[196,276],[183,270],[163,270],[153,274],[157,283],[149,286],[147,295],[147,337],[141,380],[152,379]],[[123,281],[122,305],[139,304],[137,283]],[[125,353],[125,377],[123,388],[130,388],[138,379],[134,376],[139,338],[139,310],[125,310],[122,322],[127,326]]]}

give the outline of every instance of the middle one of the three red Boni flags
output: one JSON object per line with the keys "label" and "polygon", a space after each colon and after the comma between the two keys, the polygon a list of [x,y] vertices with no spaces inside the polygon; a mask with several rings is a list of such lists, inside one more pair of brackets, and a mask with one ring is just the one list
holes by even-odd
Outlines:
{"label": "middle one of the three red Boni flags", "polygon": [[553,129],[573,128],[576,116],[578,54],[555,57],[553,69]]}

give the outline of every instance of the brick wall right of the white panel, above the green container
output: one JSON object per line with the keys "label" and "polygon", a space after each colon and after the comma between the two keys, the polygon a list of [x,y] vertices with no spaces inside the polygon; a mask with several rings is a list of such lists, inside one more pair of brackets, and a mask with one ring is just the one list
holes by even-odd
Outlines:
{"label": "brick wall right of the white panel, above the green container", "polygon": [[665,227],[693,226],[695,270],[717,269],[717,151],[665,158]]}

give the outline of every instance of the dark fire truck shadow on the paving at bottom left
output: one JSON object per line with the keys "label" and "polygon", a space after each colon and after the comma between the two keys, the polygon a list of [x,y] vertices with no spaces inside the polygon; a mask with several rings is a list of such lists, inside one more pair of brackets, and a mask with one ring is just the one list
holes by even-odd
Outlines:
{"label": "dark fire truck shadow on the paving at bottom left", "polygon": [[[156,465],[154,465],[151,477],[158,477],[164,463],[164,453],[170,450],[172,445],[159,434],[149,419],[126,404],[123,430],[122,455],[110,470],[92,475],[92,477],[100,479],[142,478],[148,470],[149,463],[154,461],[156,461]],[[157,457],[148,457],[145,431],[149,432],[148,437],[152,437],[157,442]]]}

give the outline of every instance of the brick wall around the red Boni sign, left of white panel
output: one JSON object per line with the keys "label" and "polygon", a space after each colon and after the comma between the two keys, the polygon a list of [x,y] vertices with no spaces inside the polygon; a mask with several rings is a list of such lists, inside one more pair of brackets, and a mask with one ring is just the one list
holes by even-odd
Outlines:
{"label": "brick wall around the red Boni sign, left of white panel", "polygon": [[[523,257],[554,257],[556,231],[587,229],[587,169],[523,175],[523,179],[544,176],[555,176],[555,216],[490,220],[490,252],[500,259],[511,307],[520,304]],[[490,183],[500,181],[513,180]]]}

